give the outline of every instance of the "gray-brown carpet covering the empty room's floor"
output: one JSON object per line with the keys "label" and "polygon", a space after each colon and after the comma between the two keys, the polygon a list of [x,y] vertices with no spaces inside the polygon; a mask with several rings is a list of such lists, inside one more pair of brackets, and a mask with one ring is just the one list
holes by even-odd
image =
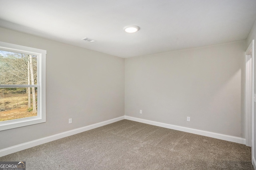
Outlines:
{"label": "gray-brown carpet covering the empty room's floor", "polygon": [[0,157],[26,170],[253,170],[251,148],[122,120]]}

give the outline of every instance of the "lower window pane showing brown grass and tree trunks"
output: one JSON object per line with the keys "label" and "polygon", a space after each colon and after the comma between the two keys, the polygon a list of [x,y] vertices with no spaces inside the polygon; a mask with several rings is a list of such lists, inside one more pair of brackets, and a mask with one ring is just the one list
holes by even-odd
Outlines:
{"label": "lower window pane showing brown grass and tree trunks", "polygon": [[37,88],[0,88],[0,121],[36,115]]}

